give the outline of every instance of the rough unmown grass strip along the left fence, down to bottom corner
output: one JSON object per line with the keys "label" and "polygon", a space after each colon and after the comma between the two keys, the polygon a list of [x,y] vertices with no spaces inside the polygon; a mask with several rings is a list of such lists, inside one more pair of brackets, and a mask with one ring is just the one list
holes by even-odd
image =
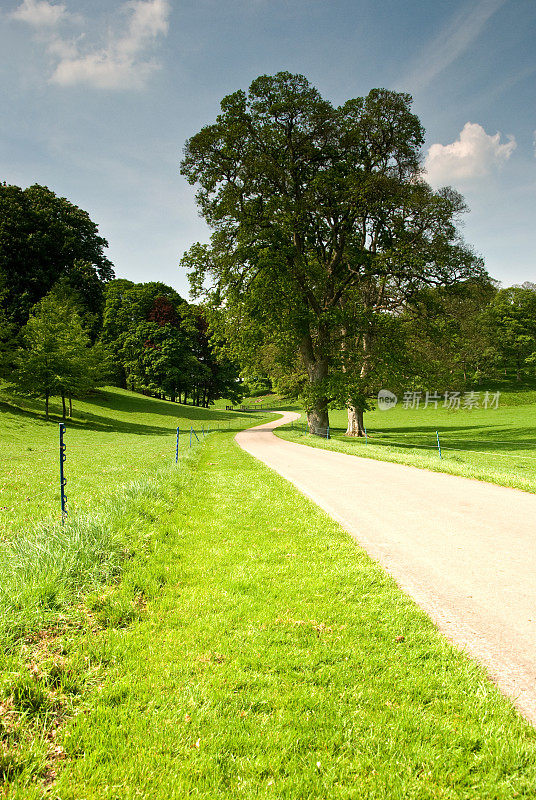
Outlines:
{"label": "rough unmown grass strip along the left fence, down to bottom corner", "polygon": [[93,514],[0,543],[0,796],[46,794],[64,757],[57,731],[105,674],[101,631],[139,618],[166,580],[151,561],[155,521],[198,455],[116,487]]}

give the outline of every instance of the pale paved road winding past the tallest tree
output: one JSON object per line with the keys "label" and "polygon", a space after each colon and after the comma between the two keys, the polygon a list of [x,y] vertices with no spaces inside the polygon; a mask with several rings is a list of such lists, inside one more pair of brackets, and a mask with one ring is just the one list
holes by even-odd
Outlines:
{"label": "pale paved road winding past the tallest tree", "polygon": [[536,495],[286,442],[240,447],[327,511],[536,724]]}

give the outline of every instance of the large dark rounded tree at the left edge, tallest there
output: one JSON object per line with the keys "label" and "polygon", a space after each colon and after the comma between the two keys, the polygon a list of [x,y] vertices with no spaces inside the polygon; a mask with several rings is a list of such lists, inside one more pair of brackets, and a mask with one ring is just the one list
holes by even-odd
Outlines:
{"label": "large dark rounded tree at the left edge, tallest there", "polygon": [[83,315],[98,319],[114,275],[107,246],[86,211],[46,186],[0,184],[0,296],[18,328],[58,282]]}

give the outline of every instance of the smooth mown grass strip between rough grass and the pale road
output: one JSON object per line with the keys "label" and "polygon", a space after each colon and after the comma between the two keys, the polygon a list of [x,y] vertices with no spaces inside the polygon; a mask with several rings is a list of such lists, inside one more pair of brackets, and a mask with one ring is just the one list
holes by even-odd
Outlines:
{"label": "smooth mown grass strip between rough grass and the pale road", "polygon": [[[88,610],[102,621],[55,640],[90,665],[84,713],[54,738],[48,787],[27,770],[9,796],[535,796],[535,731],[230,434],[155,491],[146,550]],[[123,591],[139,613],[107,624]]]}

